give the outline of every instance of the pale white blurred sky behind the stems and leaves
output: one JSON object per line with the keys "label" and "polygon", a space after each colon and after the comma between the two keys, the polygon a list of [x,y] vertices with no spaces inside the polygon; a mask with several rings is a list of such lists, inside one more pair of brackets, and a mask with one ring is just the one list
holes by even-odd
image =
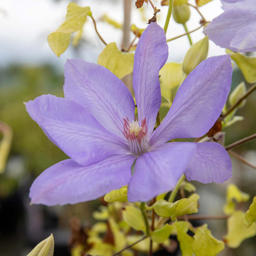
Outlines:
{"label": "pale white blurred sky behind the stems and leaves", "polygon": [[[63,21],[66,14],[66,7],[71,1],[53,0],[1,0],[0,1],[0,68],[10,64],[43,64],[52,63],[58,69],[63,70],[67,58],[80,58],[90,62],[97,62],[99,53],[104,49],[104,44],[98,39],[92,20],[88,18],[84,27],[83,44],[80,51],[74,51],[72,47],[64,52],[60,58],[51,51],[47,36],[55,30]],[[123,20],[123,0],[80,0],[76,1],[81,6],[90,6],[92,14],[97,21],[100,35],[107,43],[116,41],[121,45],[122,31],[112,28],[109,24],[100,21],[103,14],[108,14],[114,20]],[[156,7],[161,9],[157,14],[157,22],[162,27],[167,13],[168,6],[161,6],[160,0],[153,0]],[[195,4],[195,0],[189,0]],[[145,16],[150,19],[153,10],[148,4],[144,4]],[[212,20],[221,12],[220,0],[201,7],[201,11],[207,20]],[[141,19],[141,12],[135,7],[135,0],[132,1],[132,23],[140,28],[145,28],[146,21]],[[199,26],[200,16],[191,8],[191,16],[188,21],[188,29],[192,30]],[[173,20],[168,28],[167,38],[184,33],[182,25],[176,24]],[[201,39],[204,34],[202,29],[191,34],[193,42]],[[131,40],[133,35],[131,34]],[[169,42],[169,61],[181,61],[189,48],[186,36]],[[224,54],[224,49],[210,43],[209,56]]]}

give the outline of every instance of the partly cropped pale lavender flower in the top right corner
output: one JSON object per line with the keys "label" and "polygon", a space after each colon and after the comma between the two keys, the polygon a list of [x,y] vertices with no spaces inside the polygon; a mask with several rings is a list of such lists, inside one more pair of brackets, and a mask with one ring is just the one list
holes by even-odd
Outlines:
{"label": "partly cropped pale lavender flower in the top right corner", "polygon": [[234,52],[256,51],[256,1],[224,2],[224,12],[212,20],[204,33],[215,44]]}

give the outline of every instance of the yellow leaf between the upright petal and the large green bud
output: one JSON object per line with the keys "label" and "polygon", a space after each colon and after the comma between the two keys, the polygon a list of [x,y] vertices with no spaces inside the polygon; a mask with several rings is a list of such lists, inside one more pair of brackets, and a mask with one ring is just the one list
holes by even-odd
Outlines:
{"label": "yellow leaf between the upright petal and the large green bud", "polygon": [[183,77],[181,63],[170,62],[164,65],[159,71],[160,82],[165,84],[169,89],[173,89],[180,85]]}

